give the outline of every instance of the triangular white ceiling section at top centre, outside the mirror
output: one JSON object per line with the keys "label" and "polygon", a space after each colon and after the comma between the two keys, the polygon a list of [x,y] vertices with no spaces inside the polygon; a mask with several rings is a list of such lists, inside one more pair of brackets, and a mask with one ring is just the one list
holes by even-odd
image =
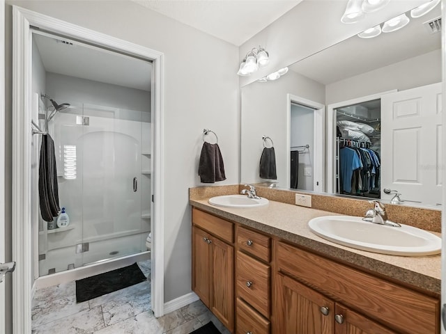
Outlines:
{"label": "triangular white ceiling section at top centre, outside the mirror", "polygon": [[133,0],[239,47],[302,0]]}

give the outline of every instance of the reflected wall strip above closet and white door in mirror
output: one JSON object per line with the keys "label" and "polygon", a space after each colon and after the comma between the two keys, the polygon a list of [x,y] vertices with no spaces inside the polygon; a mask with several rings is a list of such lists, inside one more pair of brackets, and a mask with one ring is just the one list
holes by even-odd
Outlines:
{"label": "reflected wall strip above closet and white door in mirror", "polygon": [[441,81],[441,49],[326,86],[326,104],[386,90],[406,90]]}

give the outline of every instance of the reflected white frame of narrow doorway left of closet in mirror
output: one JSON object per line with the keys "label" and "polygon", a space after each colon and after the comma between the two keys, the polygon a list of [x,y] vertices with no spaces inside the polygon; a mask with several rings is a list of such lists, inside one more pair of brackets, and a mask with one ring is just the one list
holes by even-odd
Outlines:
{"label": "reflected white frame of narrow doorway left of closet in mirror", "polygon": [[[322,193],[325,190],[325,105],[307,100],[298,95],[286,95],[286,148],[291,148],[291,103],[300,104],[314,109],[314,135],[313,135],[313,191]],[[286,184],[291,182],[291,157],[286,154]],[[320,180],[319,184],[318,180]]]}

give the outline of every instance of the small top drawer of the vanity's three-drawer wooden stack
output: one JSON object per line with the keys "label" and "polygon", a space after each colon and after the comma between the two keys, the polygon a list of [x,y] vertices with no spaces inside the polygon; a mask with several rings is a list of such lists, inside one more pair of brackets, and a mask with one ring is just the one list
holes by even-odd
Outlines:
{"label": "small top drawer of the vanity's three-drawer wooden stack", "polygon": [[237,228],[238,248],[245,250],[259,259],[270,262],[271,239],[266,235],[248,230],[247,228]]}

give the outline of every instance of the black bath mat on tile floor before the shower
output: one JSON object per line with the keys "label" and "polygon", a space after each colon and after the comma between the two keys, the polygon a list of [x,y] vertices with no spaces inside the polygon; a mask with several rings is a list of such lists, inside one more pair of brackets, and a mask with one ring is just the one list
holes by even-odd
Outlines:
{"label": "black bath mat on tile floor before the shower", "polygon": [[90,299],[109,294],[125,287],[130,287],[146,280],[146,276],[139,269],[136,262],[128,267],[123,267],[100,273],[96,276],[76,281],[76,301],[89,301]]}

